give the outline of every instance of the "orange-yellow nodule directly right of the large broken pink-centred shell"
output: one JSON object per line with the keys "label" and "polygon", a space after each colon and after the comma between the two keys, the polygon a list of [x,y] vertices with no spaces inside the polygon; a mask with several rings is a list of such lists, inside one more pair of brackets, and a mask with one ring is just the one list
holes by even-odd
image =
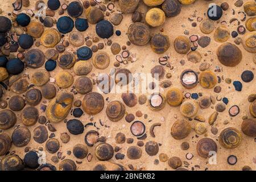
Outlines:
{"label": "orange-yellow nodule directly right of the large broken pink-centred shell", "polygon": [[199,82],[203,88],[211,89],[217,84],[218,80],[215,73],[206,70],[200,73]]}

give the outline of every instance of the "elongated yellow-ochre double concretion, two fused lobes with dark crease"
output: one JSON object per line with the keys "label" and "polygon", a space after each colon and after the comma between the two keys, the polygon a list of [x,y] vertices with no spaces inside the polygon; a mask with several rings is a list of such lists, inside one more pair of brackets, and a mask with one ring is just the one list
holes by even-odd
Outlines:
{"label": "elongated yellow-ochre double concretion, two fused lobes with dark crease", "polygon": [[72,107],[73,98],[71,93],[58,93],[56,98],[51,100],[46,108],[46,117],[49,121],[53,123],[63,121]]}

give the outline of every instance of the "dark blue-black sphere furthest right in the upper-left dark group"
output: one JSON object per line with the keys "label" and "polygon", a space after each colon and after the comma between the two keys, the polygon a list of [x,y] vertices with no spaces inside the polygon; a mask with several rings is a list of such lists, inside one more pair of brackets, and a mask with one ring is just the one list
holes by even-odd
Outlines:
{"label": "dark blue-black sphere furthest right in the upper-left dark group", "polygon": [[114,34],[114,27],[108,20],[101,20],[96,24],[96,34],[102,39],[108,39]]}

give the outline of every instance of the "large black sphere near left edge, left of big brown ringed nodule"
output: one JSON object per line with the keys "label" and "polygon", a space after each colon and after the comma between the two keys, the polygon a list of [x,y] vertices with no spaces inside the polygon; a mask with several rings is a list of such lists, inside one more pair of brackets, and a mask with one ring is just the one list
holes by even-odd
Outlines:
{"label": "large black sphere near left edge, left of big brown ringed nodule", "polygon": [[10,75],[18,75],[23,72],[24,63],[18,58],[10,59],[6,63],[6,69]]}

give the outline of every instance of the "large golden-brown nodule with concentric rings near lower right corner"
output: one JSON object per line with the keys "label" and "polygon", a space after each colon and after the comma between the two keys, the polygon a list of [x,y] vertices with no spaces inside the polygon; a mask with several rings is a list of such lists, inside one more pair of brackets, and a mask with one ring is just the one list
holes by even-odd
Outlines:
{"label": "large golden-brown nodule with concentric rings near lower right corner", "polygon": [[242,142],[242,134],[234,127],[228,127],[221,131],[218,142],[222,147],[231,149],[240,146]]}

